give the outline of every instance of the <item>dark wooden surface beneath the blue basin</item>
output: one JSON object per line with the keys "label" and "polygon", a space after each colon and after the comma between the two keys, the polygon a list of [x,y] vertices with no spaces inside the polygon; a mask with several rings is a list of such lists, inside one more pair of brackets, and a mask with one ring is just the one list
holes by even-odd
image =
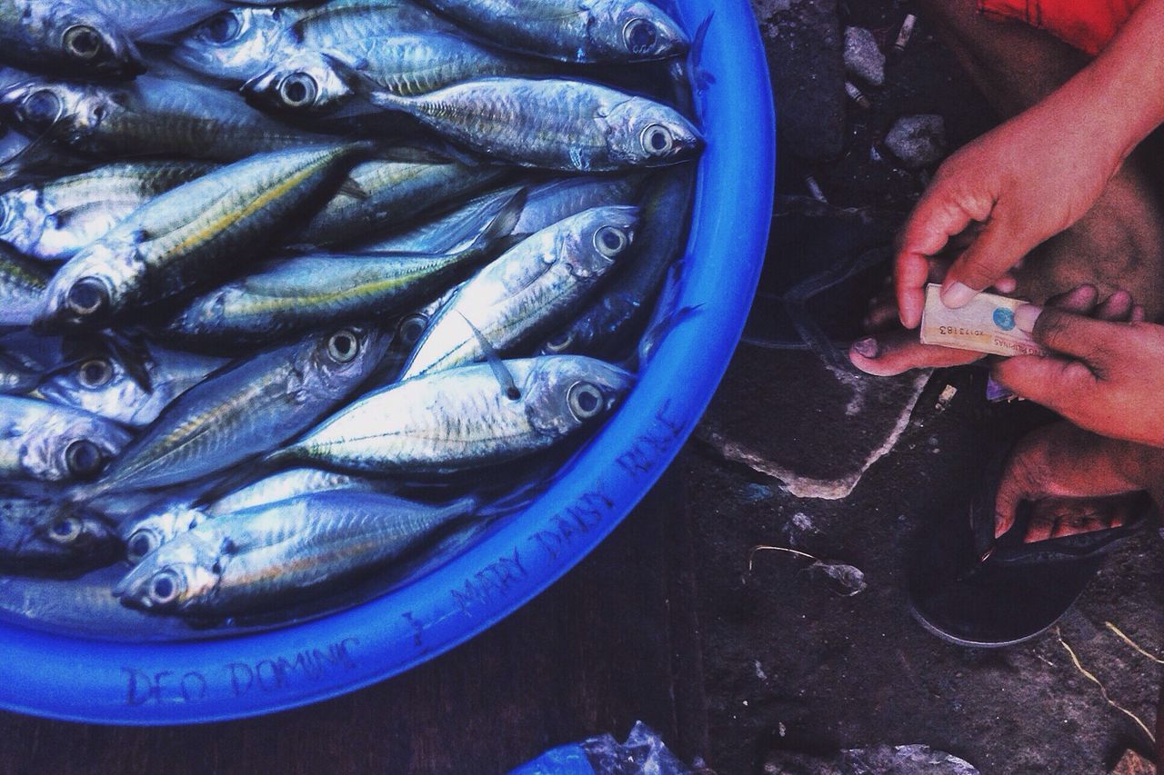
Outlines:
{"label": "dark wooden surface beneath the blue basin", "polygon": [[643,719],[705,754],[698,626],[674,469],[581,566],[409,674],[265,718],[122,728],[0,713],[2,773],[504,773]]}

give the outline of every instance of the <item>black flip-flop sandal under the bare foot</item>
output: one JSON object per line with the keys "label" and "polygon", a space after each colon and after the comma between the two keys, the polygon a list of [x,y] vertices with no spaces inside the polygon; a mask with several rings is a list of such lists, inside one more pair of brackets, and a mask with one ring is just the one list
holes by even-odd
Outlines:
{"label": "black flip-flop sandal under the bare foot", "polygon": [[[1006,447],[1009,450],[1009,445]],[[1147,497],[1121,498],[1137,517],[1126,527],[1022,543],[1031,509],[991,549],[994,498],[1007,452],[993,455],[960,524],[921,538],[909,574],[909,606],[929,632],[959,646],[1000,648],[1038,637],[1067,612],[1106,553],[1150,522]]]}

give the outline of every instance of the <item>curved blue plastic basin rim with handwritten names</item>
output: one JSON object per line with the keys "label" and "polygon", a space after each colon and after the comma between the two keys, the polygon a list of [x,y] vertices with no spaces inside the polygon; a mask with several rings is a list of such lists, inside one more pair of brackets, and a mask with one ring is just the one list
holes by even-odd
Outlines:
{"label": "curved blue plastic basin rim with handwritten names", "polygon": [[525,513],[383,597],[300,625],[207,641],[91,641],[0,625],[0,706],[104,724],[270,713],[383,681],[484,631],[594,549],[670,463],[743,330],[771,222],[775,119],[747,0],[677,0],[684,28],[712,10],[696,95],[701,161],[680,304],[616,417]]}

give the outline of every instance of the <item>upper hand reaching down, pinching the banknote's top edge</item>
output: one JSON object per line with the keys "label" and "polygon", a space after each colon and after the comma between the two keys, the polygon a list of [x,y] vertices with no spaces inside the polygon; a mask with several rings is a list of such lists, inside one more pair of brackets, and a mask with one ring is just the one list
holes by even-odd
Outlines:
{"label": "upper hand reaching down, pinching the banknote's top edge", "polygon": [[952,237],[968,247],[941,280],[960,307],[994,285],[1035,247],[1078,221],[1119,170],[1123,148],[1103,136],[1080,90],[1062,90],[982,135],[938,170],[906,223],[894,277],[901,323],[916,328],[935,258]]}

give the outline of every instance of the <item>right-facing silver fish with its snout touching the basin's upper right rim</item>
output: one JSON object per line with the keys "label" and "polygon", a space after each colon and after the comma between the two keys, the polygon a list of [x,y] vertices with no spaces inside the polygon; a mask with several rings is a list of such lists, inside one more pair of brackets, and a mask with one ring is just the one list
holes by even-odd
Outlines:
{"label": "right-facing silver fish with its snout touching the basin's upper right rim", "polygon": [[694,158],[698,129],[672,107],[598,84],[482,78],[402,97],[333,59],[377,107],[412,116],[453,143],[520,166],[615,172]]}

